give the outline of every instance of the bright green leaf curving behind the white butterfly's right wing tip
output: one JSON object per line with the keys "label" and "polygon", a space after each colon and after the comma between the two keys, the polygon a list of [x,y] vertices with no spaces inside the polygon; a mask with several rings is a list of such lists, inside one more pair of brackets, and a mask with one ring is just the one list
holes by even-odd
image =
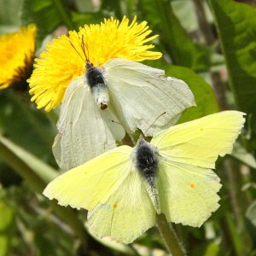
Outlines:
{"label": "bright green leaf curving behind the white butterfly's right wing tip", "polygon": [[[188,108],[178,120],[178,123],[199,119],[207,114],[218,112],[218,103],[210,84],[187,67],[168,65],[166,75],[182,79],[189,85],[195,96],[196,107]],[[207,102],[207,104],[206,104]]]}

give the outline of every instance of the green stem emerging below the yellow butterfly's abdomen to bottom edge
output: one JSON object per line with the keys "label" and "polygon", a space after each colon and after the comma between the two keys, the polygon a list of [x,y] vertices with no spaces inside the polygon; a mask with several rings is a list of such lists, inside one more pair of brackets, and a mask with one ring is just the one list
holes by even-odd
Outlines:
{"label": "green stem emerging below the yellow butterfly's abdomen to bottom edge", "polygon": [[172,256],[185,256],[186,253],[177,240],[177,235],[172,228],[172,224],[167,222],[166,216],[164,214],[157,215],[156,223],[162,238],[166,242],[166,247],[172,253]]}

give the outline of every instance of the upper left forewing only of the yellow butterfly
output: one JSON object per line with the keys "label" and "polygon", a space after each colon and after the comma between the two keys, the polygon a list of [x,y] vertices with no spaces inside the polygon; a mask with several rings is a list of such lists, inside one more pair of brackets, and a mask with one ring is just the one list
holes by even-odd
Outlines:
{"label": "upper left forewing only of the yellow butterfly", "polygon": [[104,204],[129,175],[131,151],[128,146],[113,148],[56,177],[43,194],[61,206],[92,210],[98,203]]}

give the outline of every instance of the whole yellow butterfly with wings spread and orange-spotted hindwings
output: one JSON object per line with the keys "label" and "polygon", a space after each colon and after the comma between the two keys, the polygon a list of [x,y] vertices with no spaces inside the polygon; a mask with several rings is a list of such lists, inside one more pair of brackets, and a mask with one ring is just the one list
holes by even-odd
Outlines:
{"label": "whole yellow butterfly with wings spread and orange-spotted hindwings", "polygon": [[201,226],[219,207],[218,155],[230,154],[244,113],[213,113],[160,131],[151,143],[114,148],[56,177],[44,195],[62,206],[85,208],[90,231],[131,243],[155,225]]}

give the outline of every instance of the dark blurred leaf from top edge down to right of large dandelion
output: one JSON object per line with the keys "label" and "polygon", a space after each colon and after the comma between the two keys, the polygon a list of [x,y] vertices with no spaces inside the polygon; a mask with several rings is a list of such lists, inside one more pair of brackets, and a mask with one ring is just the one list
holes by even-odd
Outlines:
{"label": "dark blurred leaf from top edge down to right of large dandelion", "polygon": [[164,50],[171,56],[174,65],[206,70],[211,66],[212,50],[195,44],[181,26],[166,0],[143,0],[139,2],[143,17],[154,34],[160,35]]}

